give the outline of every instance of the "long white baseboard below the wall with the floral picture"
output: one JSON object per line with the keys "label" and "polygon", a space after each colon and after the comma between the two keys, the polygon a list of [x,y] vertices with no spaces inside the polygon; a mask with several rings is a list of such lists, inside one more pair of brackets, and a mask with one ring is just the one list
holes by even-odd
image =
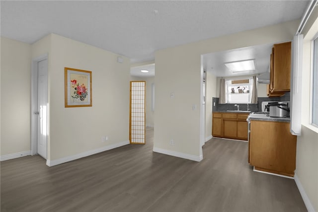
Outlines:
{"label": "long white baseboard below the wall with the floral picture", "polygon": [[108,145],[108,146],[103,146],[101,148],[85,151],[85,152],[82,152],[82,153],[79,153],[79,154],[75,154],[75,155],[71,155],[71,156],[67,156],[67,157],[62,157],[62,158],[55,159],[55,160],[46,160],[46,165],[47,166],[59,165],[61,163],[66,163],[66,162],[69,162],[69,161],[72,161],[72,160],[79,159],[81,157],[86,157],[86,156],[89,156],[89,155],[92,155],[92,154],[97,154],[99,152],[110,150],[110,149],[113,149],[113,148],[117,148],[117,147],[120,147],[120,146],[123,146],[123,145],[127,145],[129,143],[130,143],[129,141],[123,141],[123,142],[120,142],[120,143],[115,143],[115,144],[111,144],[111,145]]}

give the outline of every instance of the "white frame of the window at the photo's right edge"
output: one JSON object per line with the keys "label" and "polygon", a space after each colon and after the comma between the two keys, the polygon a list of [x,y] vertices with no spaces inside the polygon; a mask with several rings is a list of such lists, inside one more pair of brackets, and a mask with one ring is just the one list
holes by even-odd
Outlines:
{"label": "white frame of the window at the photo's right edge", "polygon": [[[318,84],[314,84],[314,71],[318,71],[318,59],[316,64],[315,70],[315,41],[317,42],[318,47],[318,33],[314,36],[311,41],[311,74],[310,74],[310,117],[309,117],[309,124],[318,128],[318,123],[313,123],[314,118],[314,85],[318,86]],[[317,57],[318,57],[318,49],[317,49]],[[318,73],[316,73],[318,75]],[[316,79],[318,81],[318,79]],[[318,107],[318,105],[317,105]]]}

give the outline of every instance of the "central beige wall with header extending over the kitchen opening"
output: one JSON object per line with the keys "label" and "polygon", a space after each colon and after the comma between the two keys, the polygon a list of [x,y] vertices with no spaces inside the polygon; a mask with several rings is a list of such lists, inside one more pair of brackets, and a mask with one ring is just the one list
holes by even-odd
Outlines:
{"label": "central beige wall with header extending over the kitchen opening", "polygon": [[[201,55],[289,41],[298,24],[289,21],[157,51],[154,147],[201,157]],[[169,145],[170,139],[175,145]]]}

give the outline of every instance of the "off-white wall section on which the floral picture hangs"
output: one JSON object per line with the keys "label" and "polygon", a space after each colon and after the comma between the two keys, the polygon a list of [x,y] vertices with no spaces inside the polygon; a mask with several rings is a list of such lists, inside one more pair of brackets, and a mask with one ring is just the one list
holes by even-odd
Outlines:
{"label": "off-white wall section on which the floral picture hangs", "polygon": [[[50,160],[128,141],[130,60],[56,34],[51,45]],[[92,71],[92,107],[64,107],[65,67]]]}

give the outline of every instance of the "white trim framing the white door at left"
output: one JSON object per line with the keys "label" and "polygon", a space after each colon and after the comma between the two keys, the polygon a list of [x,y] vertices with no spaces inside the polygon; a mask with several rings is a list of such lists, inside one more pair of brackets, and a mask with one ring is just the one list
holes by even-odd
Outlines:
{"label": "white trim framing the white door at left", "polygon": [[[37,154],[38,62],[48,60],[48,54],[33,58],[31,63],[31,155]],[[49,71],[49,70],[48,70]],[[49,110],[49,108],[48,108]],[[49,112],[49,111],[48,111]],[[49,113],[48,113],[49,114]],[[47,140],[48,141],[48,140]],[[48,145],[46,145],[48,148]]]}

